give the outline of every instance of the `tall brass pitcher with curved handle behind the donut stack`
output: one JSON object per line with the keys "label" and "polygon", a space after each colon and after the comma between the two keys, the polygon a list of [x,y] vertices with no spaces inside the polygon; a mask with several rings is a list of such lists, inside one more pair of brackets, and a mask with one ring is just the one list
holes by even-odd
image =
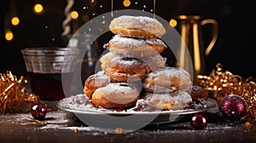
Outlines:
{"label": "tall brass pitcher with curved handle behind the donut stack", "polygon": [[[212,25],[212,40],[204,48],[202,26]],[[178,66],[190,70],[189,61],[186,58],[185,48],[189,49],[192,64],[194,66],[194,77],[206,72],[206,57],[212,50],[218,37],[218,22],[212,19],[203,19],[198,15],[179,15],[177,16],[177,31],[180,33],[183,43],[180,44],[179,63]],[[184,45],[185,44],[185,45]]]}

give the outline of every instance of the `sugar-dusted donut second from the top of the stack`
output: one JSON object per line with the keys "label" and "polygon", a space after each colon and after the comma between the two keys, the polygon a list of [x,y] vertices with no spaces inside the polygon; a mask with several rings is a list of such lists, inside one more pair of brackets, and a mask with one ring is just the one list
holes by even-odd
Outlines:
{"label": "sugar-dusted donut second from the top of the stack", "polygon": [[166,44],[160,39],[138,39],[115,35],[103,48],[109,49],[113,54],[137,58],[160,54],[166,49]]}

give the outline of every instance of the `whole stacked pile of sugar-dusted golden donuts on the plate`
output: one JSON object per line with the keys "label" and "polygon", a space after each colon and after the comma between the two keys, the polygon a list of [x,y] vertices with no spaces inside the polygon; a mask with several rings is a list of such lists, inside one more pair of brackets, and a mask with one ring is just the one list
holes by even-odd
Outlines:
{"label": "whole stacked pile of sugar-dusted golden donuts on the plate", "polygon": [[131,109],[143,103],[141,108],[160,110],[189,106],[189,72],[166,66],[160,55],[166,49],[160,40],[166,30],[158,20],[123,15],[113,19],[109,29],[115,35],[103,46],[109,51],[100,58],[102,71],[84,82],[84,94],[92,105]]}

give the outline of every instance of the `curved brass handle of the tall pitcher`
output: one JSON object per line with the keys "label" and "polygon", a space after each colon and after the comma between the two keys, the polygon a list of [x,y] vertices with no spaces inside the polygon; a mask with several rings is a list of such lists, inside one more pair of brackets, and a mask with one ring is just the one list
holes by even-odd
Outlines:
{"label": "curved brass handle of the tall pitcher", "polygon": [[213,33],[213,36],[212,36],[212,41],[211,43],[209,43],[207,49],[206,49],[206,52],[205,54],[206,55],[209,55],[214,44],[216,43],[217,41],[217,37],[218,37],[218,22],[216,20],[212,20],[212,19],[206,19],[206,20],[202,20],[201,21],[201,26],[204,26],[206,24],[212,24],[212,33]]}

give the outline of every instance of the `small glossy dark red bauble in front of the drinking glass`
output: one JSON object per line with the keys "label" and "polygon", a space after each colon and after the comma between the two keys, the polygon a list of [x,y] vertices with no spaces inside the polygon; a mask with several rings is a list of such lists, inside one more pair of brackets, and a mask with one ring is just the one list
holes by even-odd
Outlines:
{"label": "small glossy dark red bauble in front of the drinking glass", "polygon": [[31,107],[31,115],[37,120],[44,120],[47,113],[47,107],[41,103],[34,104]]}

